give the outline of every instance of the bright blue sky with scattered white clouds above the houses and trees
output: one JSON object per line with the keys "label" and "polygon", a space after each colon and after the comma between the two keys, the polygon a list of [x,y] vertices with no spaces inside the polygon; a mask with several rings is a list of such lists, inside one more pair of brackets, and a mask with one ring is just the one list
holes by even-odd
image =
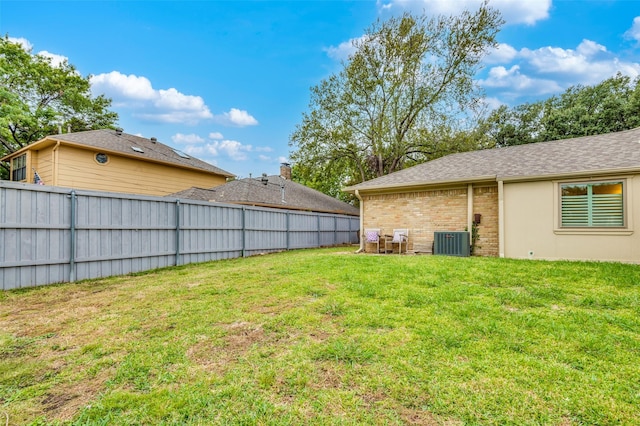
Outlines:
{"label": "bright blue sky with scattered white clouds above the houses and trees", "polygon": [[[125,132],[240,177],[276,174],[310,87],[350,40],[405,10],[479,0],[0,0],[0,34],[68,59],[113,99]],[[491,106],[544,99],[621,72],[640,75],[640,0],[492,0],[506,24],[476,76]]]}

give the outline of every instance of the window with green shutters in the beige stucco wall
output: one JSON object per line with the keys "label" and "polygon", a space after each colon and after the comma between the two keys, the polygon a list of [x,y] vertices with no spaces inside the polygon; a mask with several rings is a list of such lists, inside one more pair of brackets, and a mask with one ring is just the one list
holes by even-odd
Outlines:
{"label": "window with green shutters in the beige stucco wall", "polygon": [[563,227],[624,226],[622,181],[560,185]]}

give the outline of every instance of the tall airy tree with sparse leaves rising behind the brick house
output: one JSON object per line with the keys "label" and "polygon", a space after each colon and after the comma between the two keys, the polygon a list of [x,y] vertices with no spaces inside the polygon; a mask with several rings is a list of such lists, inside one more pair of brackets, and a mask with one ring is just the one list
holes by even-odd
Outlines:
{"label": "tall airy tree with sparse leaves rising behind the brick house", "polygon": [[290,138],[298,178],[342,186],[469,149],[442,141],[459,139],[477,105],[473,77],[501,25],[487,3],[459,16],[405,13],[373,24],[342,70],[311,88]]}

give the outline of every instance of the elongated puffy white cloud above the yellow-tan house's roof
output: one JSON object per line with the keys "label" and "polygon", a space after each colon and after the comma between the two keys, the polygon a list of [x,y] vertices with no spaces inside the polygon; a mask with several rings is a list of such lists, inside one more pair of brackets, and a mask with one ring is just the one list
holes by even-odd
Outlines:
{"label": "elongated puffy white cloud above the yellow-tan house's roof", "polygon": [[148,121],[197,124],[213,114],[200,96],[185,95],[175,88],[156,90],[151,81],[118,71],[91,77],[94,94],[105,94],[114,106],[134,109],[133,115]]}

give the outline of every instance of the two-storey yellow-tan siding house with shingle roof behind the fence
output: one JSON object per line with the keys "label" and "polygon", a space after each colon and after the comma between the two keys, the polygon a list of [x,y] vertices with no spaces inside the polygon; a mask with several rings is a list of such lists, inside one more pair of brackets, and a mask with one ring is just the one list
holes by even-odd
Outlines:
{"label": "two-storey yellow-tan siding house with shingle roof behind the fence", "polygon": [[46,185],[143,195],[210,188],[233,176],[153,138],[120,130],[48,136],[2,161],[11,164],[11,180],[36,183],[37,172]]}

